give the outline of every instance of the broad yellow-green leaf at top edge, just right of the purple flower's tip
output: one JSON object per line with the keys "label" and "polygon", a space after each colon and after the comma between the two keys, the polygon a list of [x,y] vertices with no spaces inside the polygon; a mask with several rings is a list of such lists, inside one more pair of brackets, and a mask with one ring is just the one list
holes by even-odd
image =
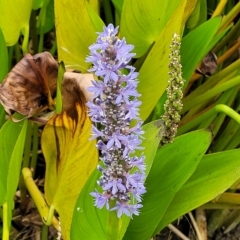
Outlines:
{"label": "broad yellow-green leaf at top edge, just right of the purple flower's tip", "polygon": [[[127,42],[134,45],[136,57],[144,55],[158,39],[170,17],[182,2],[182,0],[123,2],[121,35],[126,37]],[[181,24],[181,21],[177,24]],[[176,30],[173,29],[173,31]]]}

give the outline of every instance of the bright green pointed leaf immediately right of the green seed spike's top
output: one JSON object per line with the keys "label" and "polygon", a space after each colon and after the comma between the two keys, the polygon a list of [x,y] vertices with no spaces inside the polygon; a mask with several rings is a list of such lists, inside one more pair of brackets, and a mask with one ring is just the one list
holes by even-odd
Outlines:
{"label": "bright green pointed leaf immediately right of the green seed spike's top", "polygon": [[212,18],[182,39],[181,62],[183,78],[186,80],[185,86],[187,86],[197,64],[208,53],[207,47],[216,34],[220,22],[221,17]]}

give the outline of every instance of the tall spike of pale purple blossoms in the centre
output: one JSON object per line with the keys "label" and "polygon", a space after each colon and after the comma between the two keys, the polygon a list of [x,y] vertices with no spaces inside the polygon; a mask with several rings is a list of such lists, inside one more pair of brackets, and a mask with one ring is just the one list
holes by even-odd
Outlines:
{"label": "tall spike of pale purple blossoms in the centre", "polygon": [[104,27],[97,42],[89,47],[91,54],[86,59],[93,64],[89,71],[99,78],[88,88],[94,96],[87,106],[95,122],[91,139],[98,138],[101,153],[98,170],[102,176],[97,183],[102,190],[91,195],[96,207],[115,210],[118,217],[122,214],[132,217],[139,214],[141,195],[146,192],[145,156],[134,156],[135,150],[143,149],[138,113],[141,102],[137,100],[138,73],[127,65],[135,55],[130,53],[133,46],[126,44],[124,38],[120,40],[117,32],[118,27],[112,24]]}

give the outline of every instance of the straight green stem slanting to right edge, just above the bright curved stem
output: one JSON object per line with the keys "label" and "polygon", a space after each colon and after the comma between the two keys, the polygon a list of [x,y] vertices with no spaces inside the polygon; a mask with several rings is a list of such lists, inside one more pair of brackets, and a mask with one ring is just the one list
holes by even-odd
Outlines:
{"label": "straight green stem slanting to right edge, just above the bright curved stem", "polygon": [[232,88],[236,85],[240,84],[240,76],[237,76],[227,82],[222,83],[221,85],[218,85],[214,87],[213,89],[205,92],[204,94],[201,94],[200,96],[194,98],[192,101],[185,101],[183,103],[183,110],[182,113],[187,112],[194,106],[200,104],[201,102],[205,101],[206,99],[212,98],[224,91],[226,91],[229,88]]}

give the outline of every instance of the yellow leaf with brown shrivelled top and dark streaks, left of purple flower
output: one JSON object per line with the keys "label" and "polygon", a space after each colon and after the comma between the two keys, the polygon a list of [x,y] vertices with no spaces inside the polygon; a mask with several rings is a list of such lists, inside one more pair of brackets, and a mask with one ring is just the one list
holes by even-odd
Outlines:
{"label": "yellow leaf with brown shrivelled top and dark streaks, left of purple flower", "polygon": [[75,79],[64,79],[62,95],[63,111],[44,128],[42,150],[46,160],[46,200],[59,213],[62,235],[68,240],[77,197],[96,168],[98,152],[96,142],[89,141],[91,121]]}

